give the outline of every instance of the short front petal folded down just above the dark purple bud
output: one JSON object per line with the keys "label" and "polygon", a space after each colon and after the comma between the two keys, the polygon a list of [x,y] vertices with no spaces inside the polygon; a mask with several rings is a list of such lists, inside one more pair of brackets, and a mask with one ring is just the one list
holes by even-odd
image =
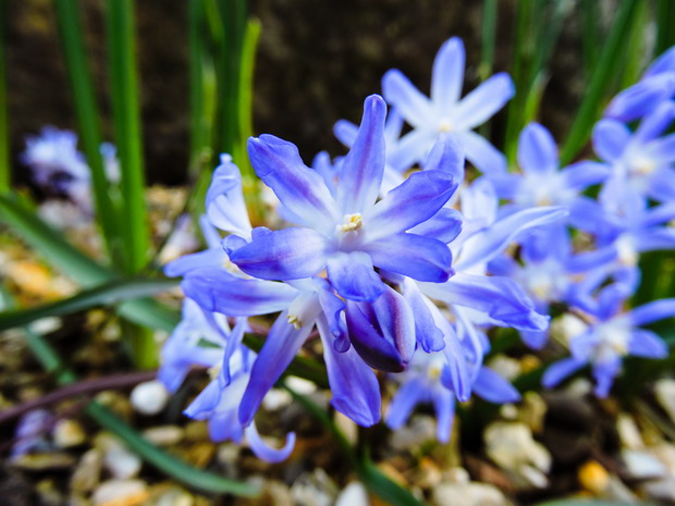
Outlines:
{"label": "short front petal folded down just above the dark purple bud", "polygon": [[384,283],[363,251],[336,252],[327,261],[328,279],[341,296],[351,300],[375,300],[384,292]]}

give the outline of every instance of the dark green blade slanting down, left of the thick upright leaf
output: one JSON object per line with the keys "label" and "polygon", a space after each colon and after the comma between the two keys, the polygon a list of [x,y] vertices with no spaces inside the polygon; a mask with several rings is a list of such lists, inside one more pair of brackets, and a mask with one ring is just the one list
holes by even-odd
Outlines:
{"label": "dark green blade slanting down, left of the thick upright leaf", "polygon": [[87,67],[82,22],[76,0],[53,0],[61,42],[65,54],[73,101],[79,123],[79,136],[91,171],[91,185],[97,220],[103,233],[113,266],[123,261],[120,221],[110,198],[109,183],[100,153],[100,114],[96,104],[94,84]]}

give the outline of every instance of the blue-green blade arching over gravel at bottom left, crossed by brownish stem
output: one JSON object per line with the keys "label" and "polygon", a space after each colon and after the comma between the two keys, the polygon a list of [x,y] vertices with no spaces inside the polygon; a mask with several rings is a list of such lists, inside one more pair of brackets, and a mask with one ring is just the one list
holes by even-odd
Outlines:
{"label": "blue-green blade arching over gravel at bottom left, crossed by brownish stem", "polygon": [[[2,292],[3,301],[7,304],[9,297],[4,291]],[[77,377],[66,368],[47,340],[30,329],[24,329],[24,332],[26,333],[28,347],[45,370],[56,375],[59,384],[68,385],[77,381]],[[120,437],[131,451],[138,454],[148,464],[191,489],[246,497],[255,497],[260,493],[251,484],[228,480],[218,474],[201,471],[168,454],[143,437],[135,429],[118,418],[108,408],[96,402],[89,403],[85,408],[85,412],[103,429]]]}

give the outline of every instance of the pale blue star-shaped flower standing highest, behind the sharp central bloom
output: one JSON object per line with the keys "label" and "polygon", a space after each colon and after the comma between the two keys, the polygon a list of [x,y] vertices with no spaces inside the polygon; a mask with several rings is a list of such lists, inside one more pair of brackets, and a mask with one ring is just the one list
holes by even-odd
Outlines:
{"label": "pale blue star-shaped flower standing highest, behind the sharp central bloom", "polygon": [[384,98],[413,126],[396,149],[401,166],[422,160],[439,134],[450,133],[464,148],[466,158],[481,172],[506,170],[504,156],[471,131],[513,97],[513,82],[507,74],[496,74],[461,99],[464,65],[464,45],[459,38],[453,37],[443,44],[433,62],[430,98],[424,96],[401,71],[391,70],[384,74]]}

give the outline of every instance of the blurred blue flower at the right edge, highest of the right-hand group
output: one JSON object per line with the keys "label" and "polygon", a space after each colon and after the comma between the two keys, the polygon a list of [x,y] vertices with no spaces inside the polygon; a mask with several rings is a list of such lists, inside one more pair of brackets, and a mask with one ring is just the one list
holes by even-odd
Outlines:
{"label": "blurred blue flower at the right edge, highest of the right-hand group", "polygon": [[654,111],[675,97],[675,48],[661,54],[639,83],[624,89],[610,102],[605,118],[628,123]]}

